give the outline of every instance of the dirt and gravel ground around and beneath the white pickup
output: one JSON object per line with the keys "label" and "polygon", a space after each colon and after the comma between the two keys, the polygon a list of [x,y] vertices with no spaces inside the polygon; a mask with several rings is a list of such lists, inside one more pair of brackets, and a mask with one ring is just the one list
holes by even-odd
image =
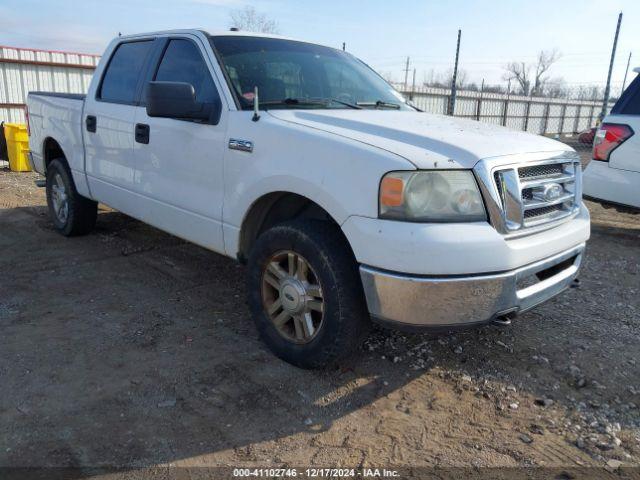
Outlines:
{"label": "dirt and gravel ground around and beneath the white pickup", "polygon": [[309,372],[242,266],[106,209],[63,238],[35,178],[0,170],[2,467],[640,466],[640,215],[589,202],[579,286],[509,327]]}

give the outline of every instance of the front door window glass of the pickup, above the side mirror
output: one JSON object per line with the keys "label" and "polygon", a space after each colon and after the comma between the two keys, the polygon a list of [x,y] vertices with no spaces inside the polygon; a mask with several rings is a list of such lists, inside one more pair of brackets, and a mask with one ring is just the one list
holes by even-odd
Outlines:
{"label": "front door window glass of the pickup, above the side mirror", "polygon": [[218,98],[207,64],[198,47],[189,40],[175,39],[169,42],[154,80],[190,83],[198,102],[213,103]]}

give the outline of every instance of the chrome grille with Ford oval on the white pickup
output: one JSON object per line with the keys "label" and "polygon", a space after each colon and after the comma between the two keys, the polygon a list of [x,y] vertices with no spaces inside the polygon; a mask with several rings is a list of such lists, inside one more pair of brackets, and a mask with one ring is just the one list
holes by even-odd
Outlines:
{"label": "chrome grille with Ford oval on the white pickup", "polygon": [[515,165],[480,162],[475,171],[491,223],[501,233],[552,226],[580,208],[581,167],[572,152]]}

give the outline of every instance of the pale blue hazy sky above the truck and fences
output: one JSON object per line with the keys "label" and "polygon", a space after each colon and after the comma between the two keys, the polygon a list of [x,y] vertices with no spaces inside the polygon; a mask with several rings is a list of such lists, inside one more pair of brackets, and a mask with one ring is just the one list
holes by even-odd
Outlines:
{"label": "pale blue hazy sky above the truck and fences", "polygon": [[506,84],[507,62],[557,49],[551,77],[570,87],[604,85],[619,12],[612,91],[622,86],[630,52],[631,69],[640,67],[637,0],[0,0],[0,45],[99,54],[118,32],[226,30],[230,13],[246,5],[276,20],[285,36],[345,42],[396,81],[404,81],[407,57],[410,82],[414,68],[417,83],[432,70],[450,72],[461,29],[460,69],[469,81]]}

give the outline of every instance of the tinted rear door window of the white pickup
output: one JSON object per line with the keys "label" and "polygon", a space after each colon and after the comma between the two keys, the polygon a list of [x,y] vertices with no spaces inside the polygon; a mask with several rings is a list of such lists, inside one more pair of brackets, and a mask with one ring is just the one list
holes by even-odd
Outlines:
{"label": "tinted rear door window of the white pickup", "polygon": [[122,43],[113,53],[102,77],[98,98],[105,102],[132,104],[140,73],[153,41]]}

